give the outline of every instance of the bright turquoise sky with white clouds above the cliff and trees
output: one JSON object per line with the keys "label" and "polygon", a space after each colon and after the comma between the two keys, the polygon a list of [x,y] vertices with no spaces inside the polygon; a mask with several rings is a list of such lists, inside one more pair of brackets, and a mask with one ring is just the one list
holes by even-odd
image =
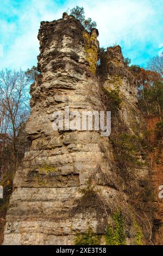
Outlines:
{"label": "bright turquoise sky with white clouds above the cliff and trees", "polygon": [[0,69],[36,65],[40,22],[60,19],[76,5],[97,22],[101,47],[120,44],[124,57],[141,66],[158,55],[163,44],[162,0],[1,0]]}

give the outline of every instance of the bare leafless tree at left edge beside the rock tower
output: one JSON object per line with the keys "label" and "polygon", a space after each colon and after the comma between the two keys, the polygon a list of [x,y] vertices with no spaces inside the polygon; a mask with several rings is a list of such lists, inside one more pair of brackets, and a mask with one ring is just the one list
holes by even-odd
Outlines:
{"label": "bare leafless tree at left edge beside the rock tower", "polygon": [[0,71],[0,177],[4,171],[9,172],[10,164],[15,173],[23,150],[24,124],[29,115],[28,92],[26,72]]}

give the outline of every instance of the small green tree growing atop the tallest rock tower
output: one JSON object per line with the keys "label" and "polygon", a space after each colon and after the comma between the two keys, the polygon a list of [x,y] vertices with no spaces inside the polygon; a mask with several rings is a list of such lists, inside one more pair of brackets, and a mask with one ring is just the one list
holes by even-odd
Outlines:
{"label": "small green tree growing atop the tallest rock tower", "polygon": [[74,7],[70,10],[70,15],[76,17],[87,31],[91,31],[92,28],[96,28],[96,21],[92,21],[91,18],[85,19],[85,12],[83,7]]}

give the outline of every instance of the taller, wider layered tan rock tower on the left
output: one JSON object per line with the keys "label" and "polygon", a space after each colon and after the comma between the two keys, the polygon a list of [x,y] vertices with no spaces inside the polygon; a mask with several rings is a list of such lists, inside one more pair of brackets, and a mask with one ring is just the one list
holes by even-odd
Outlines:
{"label": "taller, wider layered tan rock tower on the left", "polygon": [[108,137],[99,131],[53,131],[52,114],[101,110],[95,78],[97,30],[72,16],[41,22],[40,75],[32,84],[26,131],[32,142],[14,179],[4,245],[70,245],[90,227],[104,234],[118,191]]}

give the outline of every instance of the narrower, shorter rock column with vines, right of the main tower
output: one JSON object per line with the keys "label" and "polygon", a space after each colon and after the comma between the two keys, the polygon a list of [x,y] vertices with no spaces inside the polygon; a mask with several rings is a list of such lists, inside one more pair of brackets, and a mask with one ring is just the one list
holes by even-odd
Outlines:
{"label": "narrower, shorter rock column with vines, right of the main tower", "polygon": [[[102,63],[103,87],[112,102],[114,156],[128,204],[136,212],[145,244],[151,244],[155,202],[151,159],[146,150],[146,122],[137,107],[134,74],[123,62],[120,46],[108,47]],[[132,240],[132,239],[131,239]]]}

